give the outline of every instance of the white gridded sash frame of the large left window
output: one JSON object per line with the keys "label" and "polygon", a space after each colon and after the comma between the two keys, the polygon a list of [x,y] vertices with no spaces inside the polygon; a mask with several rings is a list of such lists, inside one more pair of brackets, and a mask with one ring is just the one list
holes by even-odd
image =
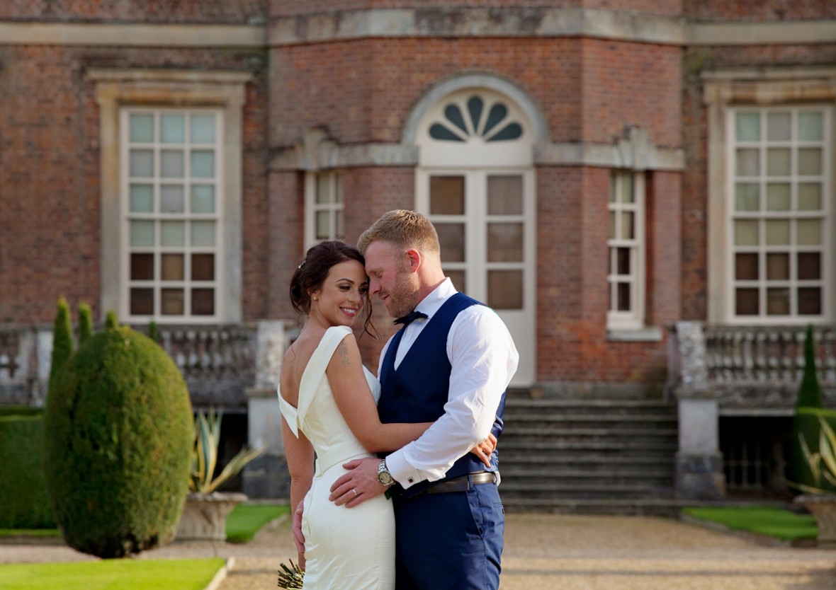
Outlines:
{"label": "white gridded sash frame of the large left window", "polygon": [[[122,173],[120,174],[122,194],[122,211],[124,211],[123,228],[121,232],[122,237],[122,269],[123,275],[120,281],[122,300],[121,309],[123,313],[120,314],[122,318],[134,323],[145,323],[154,320],[157,323],[201,323],[201,322],[217,322],[223,317],[222,298],[220,297],[220,286],[224,284],[222,253],[223,248],[223,217],[221,214],[221,204],[223,202],[222,186],[223,186],[223,113],[217,108],[150,108],[150,107],[132,107],[125,106],[120,109],[120,129],[125,129],[125,133],[120,135],[120,162],[122,165]],[[127,132],[130,129],[130,116],[132,114],[145,114],[154,118],[155,139],[150,143],[131,143],[130,134]],[[214,142],[212,144],[193,144],[188,135],[190,129],[191,115],[211,114],[214,118]],[[182,115],[184,123],[186,124],[185,132],[186,139],[183,144],[164,144],[161,142],[161,118],[164,115]],[[154,154],[154,175],[148,178],[132,178],[130,175],[130,150],[131,149],[145,149],[150,150]],[[182,150],[185,157],[183,161],[184,175],[178,179],[167,179],[161,176],[161,151],[165,149]],[[190,158],[188,154],[192,149],[212,149],[214,154],[214,175],[212,179],[195,179],[190,174]],[[154,211],[151,213],[136,213],[130,210],[130,186],[131,184],[150,184],[153,186]],[[161,188],[166,184],[181,184],[183,187],[183,212],[182,213],[166,213],[161,211]],[[215,197],[215,210],[212,213],[196,214],[190,212],[190,189],[192,185],[212,185]],[[131,224],[132,222],[150,222],[154,224],[154,238],[155,244],[149,246],[135,246],[130,244]],[[184,244],[181,246],[161,245],[162,224],[166,222],[182,222],[184,229]],[[192,222],[209,221],[214,224],[215,234],[213,237],[214,245],[192,245],[191,227]],[[130,276],[131,273],[131,255],[132,254],[151,254],[154,256],[154,278],[151,280],[135,280]],[[181,254],[183,255],[183,279],[182,280],[162,280],[161,273],[163,270],[162,257],[166,254]],[[214,256],[214,269],[212,280],[193,280],[191,279],[191,255],[192,254],[212,254]],[[131,289],[145,288],[153,291],[154,297],[154,313],[150,315],[135,315],[131,313],[130,299]],[[183,313],[181,315],[163,314],[162,291],[165,289],[181,290],[183,293]],[[212,289],[213,304],[212,314],[195,315],[191,310],[191,291],[193,289]]]}

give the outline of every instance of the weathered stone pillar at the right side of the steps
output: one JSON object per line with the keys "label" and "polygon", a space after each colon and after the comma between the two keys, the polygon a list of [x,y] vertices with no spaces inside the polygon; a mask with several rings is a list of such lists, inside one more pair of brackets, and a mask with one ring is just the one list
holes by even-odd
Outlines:
{"label": "weathered stone pillar at the right side of the steps", "polygon": [[679,400],[675,493],[686,500],[716,500],[726,497],[726,477],[719,446],[718,404],[708,386],[701,323],[677,322],[676,340],[681,380],[674,390]]}

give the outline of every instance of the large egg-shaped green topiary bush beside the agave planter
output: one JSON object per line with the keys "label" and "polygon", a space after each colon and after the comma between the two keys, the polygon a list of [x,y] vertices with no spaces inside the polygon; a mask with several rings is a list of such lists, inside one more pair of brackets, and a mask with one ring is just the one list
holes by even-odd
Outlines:
{"label": "large egg-shaped green topiary bush beside the agave planter", "polygon": [[165,350],[127,327],[90,336],[59,371],[44,426],[54,516],[70,547],[123,557],[171,540],[193,424]]}

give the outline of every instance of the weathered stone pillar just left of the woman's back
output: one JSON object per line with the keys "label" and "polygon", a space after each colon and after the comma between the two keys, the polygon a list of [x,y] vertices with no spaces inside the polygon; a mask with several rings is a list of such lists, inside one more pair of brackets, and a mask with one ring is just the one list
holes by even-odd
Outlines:
{"label": "weathered stone pillar just left of the woman's back", "polygon": [[242,490],[252,498],[290,497],[290,478],[282,442],[278,380],[286,347],[283,321],[260,321],[257,331],[256,383],[247,389],[250,446],[264,452],[242,472]]}

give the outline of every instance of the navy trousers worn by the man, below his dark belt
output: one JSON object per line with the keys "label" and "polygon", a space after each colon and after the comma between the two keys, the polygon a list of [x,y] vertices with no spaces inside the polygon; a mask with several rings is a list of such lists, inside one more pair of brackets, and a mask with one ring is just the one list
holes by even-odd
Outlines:
{"label": "navy trousers worn by the man, below his dark belt", "polygon": [[394,497],[395,590],[497,590],[505,511],[497,486]]}

